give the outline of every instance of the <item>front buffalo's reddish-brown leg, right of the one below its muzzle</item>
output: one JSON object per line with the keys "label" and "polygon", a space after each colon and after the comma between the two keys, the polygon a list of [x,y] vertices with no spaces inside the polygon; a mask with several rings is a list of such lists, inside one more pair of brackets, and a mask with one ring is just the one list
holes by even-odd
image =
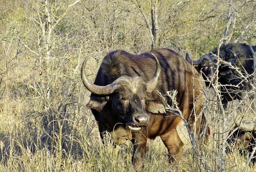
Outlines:
{"label": "front buffalo's reddish-brown leg, right of the one below its muzzle", "polygon": [[165,147],[168,149],[169,163],[178,162],[183,149],[183,142],[180,139],[177,130],[173,129],[161,136]]}

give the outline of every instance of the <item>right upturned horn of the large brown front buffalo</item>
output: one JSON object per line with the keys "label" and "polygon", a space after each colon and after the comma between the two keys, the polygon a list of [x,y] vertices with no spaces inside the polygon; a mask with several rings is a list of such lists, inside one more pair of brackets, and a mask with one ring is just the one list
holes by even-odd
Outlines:
{"label": "right upturned horn of the large brown front buffalo", "polygon": [[152,55],[154,56],[154,58],[156,60],[156,72],[155,72],[154,76],[150,79],[150,81],[148,81],[146,83],[147,93],[151,93],[155,89],[155,87],[158,83],[159,75],[160,75],[160,63],[153,53],[152,53]]}

